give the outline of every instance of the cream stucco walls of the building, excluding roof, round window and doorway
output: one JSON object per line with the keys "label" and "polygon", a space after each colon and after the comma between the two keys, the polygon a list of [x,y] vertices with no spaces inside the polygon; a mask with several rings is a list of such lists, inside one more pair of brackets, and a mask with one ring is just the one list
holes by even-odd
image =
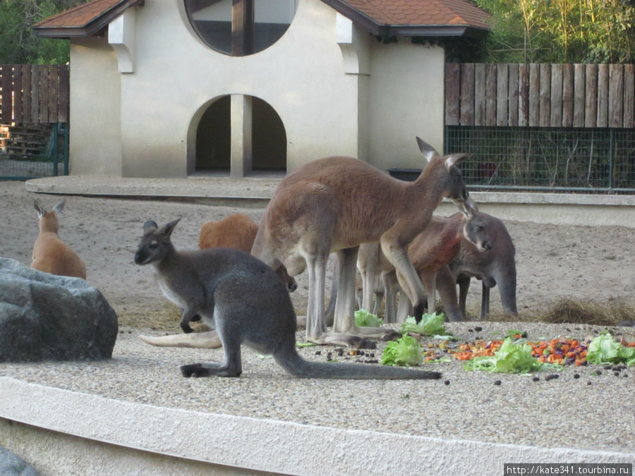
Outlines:
{"label": "cream stucco walls of the building, excluding roof, round window and doorway", "polygon": [[288,171],[329,155],[360,157],[381,169],[420,167],[416,135],[442,147],[442,49],[409,39],[380,44],[353,24],[353,45],[343,55],[337,22],[322,1],[299,0],[278,42],[232,57],[198,38],[182,0],[145,2],[126,18],[132,31],[119,35],[127,38],[125,73],[106,39],[75,40],[71,172],[188,176],[200,116],[226,94],[259,97],[277,112]]}

